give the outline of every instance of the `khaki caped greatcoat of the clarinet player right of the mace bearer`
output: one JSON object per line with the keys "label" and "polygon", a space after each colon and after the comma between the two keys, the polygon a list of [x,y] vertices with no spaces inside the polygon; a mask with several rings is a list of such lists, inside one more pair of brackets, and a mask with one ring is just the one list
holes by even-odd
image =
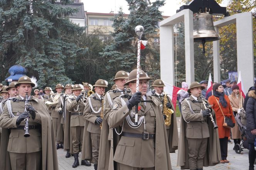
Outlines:
{"label": "khaki caped greatcoat of the clarinet player right of the mace bearer", "polygon": [[[204,120],[202,113],[200,113],[201,109],[204,109],[202,103],[193,103],[191,100],[194,100],[192,96],[182,102],[177,166],[180,166],[180,169],[189,169],[189,148],[187,138],[208,138],[203,164],[204,167],[214,166],[221,160],[218,130],[213,128],[213,124],[209,117],[206,122],[200,122]],[[189,101],[194,114],[190,111],[187,101]],[[214,116],[214,111],[212,112],[212,115]],[[190,122],[185,122],[184,118],[187,122]]]}

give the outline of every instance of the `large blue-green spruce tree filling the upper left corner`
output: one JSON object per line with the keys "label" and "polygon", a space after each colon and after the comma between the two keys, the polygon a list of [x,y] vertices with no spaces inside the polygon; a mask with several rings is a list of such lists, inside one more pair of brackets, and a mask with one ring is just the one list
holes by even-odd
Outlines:
{"label": "large blue-green spruce tree filling the upper left corner", "polygon": [[[77,9],[62,7],[73,0],[1,0],[0,57],[1,79],[8,68],[20,64],[28,68],[28,76],[38,79],[39,87],[72,83],[66,76],[74,58],[84,48],[65,40],[65,36],[81,35],[84,28],[67,18]],[[64,65],[69,64],[68,67]]]}

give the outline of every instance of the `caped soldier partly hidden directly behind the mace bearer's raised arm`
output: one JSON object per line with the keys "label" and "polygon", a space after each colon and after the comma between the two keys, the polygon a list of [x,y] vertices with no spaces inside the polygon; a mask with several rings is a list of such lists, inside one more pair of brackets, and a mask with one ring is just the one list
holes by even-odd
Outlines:
{"label": "caped soldier partly hidden directly behind the mace bearer's raised arm", "polygon": [[[100,170],[110,170],[113,168],[113,152],[110,146],[111,145],[111,138],[112,138],[112,128],[108,126],[108,116],[113,107],[113,101],[116,97],[120,96],[124,93],[125,81],[128,78],[128,74],[125,71],[118,71],[115,75],[114,82],[116,87],[114,89],[109,90],[106,92],[104,97],[104,117],[101,129],[101,140],[99,144],[99,162],[98,162],[98,169]],[[130,92],[129,92],[130,93]],[[114,130],[114,132],[115,130]],[[111,153],[111,155],[109,155]],[[110,165],[109,165],[109,157],[110,158]],[[110,166],[110,167],[109,167]]]}

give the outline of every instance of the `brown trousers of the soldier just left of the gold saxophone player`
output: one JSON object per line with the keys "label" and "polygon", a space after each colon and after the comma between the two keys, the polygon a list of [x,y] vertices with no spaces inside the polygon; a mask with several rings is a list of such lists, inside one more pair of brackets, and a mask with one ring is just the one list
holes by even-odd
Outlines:
{"label": "brown trousers of the soldier just left of the gold saxophone player", "polygon": [[71,127],[73,153],[79,153],[83,146],[84,126]]}

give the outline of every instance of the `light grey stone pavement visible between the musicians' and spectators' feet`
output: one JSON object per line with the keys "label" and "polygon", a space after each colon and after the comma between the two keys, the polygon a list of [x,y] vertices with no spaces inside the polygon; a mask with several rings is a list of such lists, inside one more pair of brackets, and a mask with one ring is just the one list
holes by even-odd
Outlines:
{"label": "light grey stone pavement visible between the musicians' and spectators' feet", "polygon": [[[177,117],[178,130],[180,130],[180,117]],[[232,141],[232,140],[231,140]],[[204,170],[248,170],[249,162],[248,162],[248,153],[249,150],[243,149],[241,154],[237,154],[234,150],[234,143],[228,143],[228,151],[227,151],[227,160],[230,163],[218,164],[214,167],[204,167]],[[171,161],[172,161],[172,169],[179,170],[180,167],[177,167],[177,154],[170,153]],[[60,170],[94,170],[93,164],[91,167],[81,166],[81,153],[79,154],[79,163],[80,165],[77,168],[72,168],[72,164],[74,163],[74,157],[65,158],[66,152],[62,149],[57,150],[58,161],[59,161],[59,169]]]}

